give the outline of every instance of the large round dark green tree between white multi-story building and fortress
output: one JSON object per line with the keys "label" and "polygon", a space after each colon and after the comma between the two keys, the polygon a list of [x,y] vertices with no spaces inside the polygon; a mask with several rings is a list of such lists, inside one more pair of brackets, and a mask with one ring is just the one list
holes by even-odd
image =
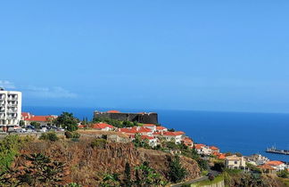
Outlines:
{"label": "large round dark green tree between white multi-story building and fortress", "polygon": [[72,113],[62,112],[62,115],[54,120],[56,126],[62,126],[68,131],[78,130],[78,118],[74,118]]}

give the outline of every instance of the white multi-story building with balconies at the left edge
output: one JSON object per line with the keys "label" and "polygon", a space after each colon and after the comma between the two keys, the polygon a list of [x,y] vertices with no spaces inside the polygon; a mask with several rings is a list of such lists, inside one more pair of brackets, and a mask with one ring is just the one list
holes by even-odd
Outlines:
{"label": "white multi-story building with balconies at the left edge", "polygon": [[21,120],[21,92],[0,88],[0,126],[18,126]]}

